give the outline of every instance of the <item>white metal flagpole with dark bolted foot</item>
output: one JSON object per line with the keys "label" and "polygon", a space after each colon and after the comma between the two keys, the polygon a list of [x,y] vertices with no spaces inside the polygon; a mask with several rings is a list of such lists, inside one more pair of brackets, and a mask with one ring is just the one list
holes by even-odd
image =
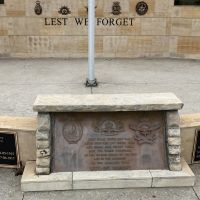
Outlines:
{"label": "white metal flagpole with dark bolted foot", "polygon": [[87,87],[96,87],[95,65],[95,0],[88,0],[88,78]]}

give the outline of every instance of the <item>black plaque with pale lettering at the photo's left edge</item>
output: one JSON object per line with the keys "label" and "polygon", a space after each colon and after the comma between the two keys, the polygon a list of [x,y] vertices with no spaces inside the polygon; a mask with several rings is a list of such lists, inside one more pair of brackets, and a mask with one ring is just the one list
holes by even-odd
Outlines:
{"label": "black plaque with pale lettering at the photo's left edge", "polygon": [[0,132],[0,167],[20,167],[17,134],[15,132]]}

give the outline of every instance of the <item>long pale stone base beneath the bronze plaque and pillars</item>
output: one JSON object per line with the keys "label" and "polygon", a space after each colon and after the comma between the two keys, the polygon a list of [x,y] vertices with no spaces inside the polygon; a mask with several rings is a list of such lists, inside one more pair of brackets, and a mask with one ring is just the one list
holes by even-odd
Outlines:
{"label": "long pale stone base beneath the bronze plaque and pillars", "polygon": [[194,186],[195,176],[185,160],[182,171],[134,170],[62,172],[38,176],[35,162],[27,162],[21,180],[22,191],[56,191],[109,188],[153,188]]}

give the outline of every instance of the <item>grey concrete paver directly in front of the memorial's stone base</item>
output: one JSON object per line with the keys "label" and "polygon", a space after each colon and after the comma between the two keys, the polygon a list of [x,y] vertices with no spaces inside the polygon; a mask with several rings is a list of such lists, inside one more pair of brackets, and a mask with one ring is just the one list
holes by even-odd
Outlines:
{"label": "grey concrete paver directly in front of the memorial's stone base", "polygon": [[26,193],[24,200],[198,200],[192,188],[118,189]]}

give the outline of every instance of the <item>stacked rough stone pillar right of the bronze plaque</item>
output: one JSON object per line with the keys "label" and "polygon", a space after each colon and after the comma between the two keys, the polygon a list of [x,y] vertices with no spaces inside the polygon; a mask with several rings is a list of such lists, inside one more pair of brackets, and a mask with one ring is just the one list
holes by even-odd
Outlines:
{"label": "stacked rough stone pillar right of the bronze plaque", "polygon": [[167,111],[166,133],[169,169],[181,171],[181,136],[178,111]]}

